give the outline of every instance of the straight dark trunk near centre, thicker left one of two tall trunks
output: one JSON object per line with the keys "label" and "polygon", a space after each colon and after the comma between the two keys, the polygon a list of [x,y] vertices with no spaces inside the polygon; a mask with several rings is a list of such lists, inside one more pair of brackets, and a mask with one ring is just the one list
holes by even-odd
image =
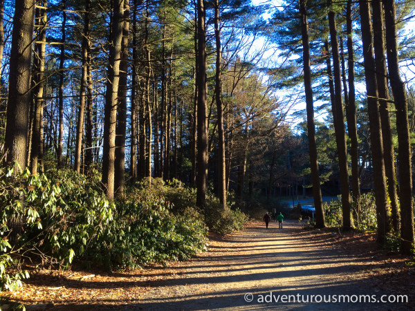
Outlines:
{"label": "straight dark trunk near centre, thicker left one of two tall trunks", "polygon": [[197,98],[197,193],[196,205],[205,206],[208,168],[208,124],[206,116],[206,31],[204,0],[197,0],[198,21],[198,98]]}

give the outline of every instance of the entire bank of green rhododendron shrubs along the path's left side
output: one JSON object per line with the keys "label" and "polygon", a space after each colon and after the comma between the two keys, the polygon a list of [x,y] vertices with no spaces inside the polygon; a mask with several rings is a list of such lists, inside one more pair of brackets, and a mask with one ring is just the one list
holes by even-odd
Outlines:
{"label": "entire bank of green rhododendron shrubs along the path's left side", "polygon": [[247,220],[212,195],[200,210],[195,190],[177,180],[143,180],[109,202],[98,172],[15,169],[0,169],[0,290],[19,287],[28,262],[113,270],[183,260],[205,250],[208,227],[226,234]]}

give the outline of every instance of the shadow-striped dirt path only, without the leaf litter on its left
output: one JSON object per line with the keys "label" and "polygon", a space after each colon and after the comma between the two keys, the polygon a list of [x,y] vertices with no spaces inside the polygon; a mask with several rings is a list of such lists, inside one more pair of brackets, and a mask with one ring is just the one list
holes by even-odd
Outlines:
{"label": "shadow-striped dirt path only, without the leaf litter on its left", "polygon": [[[363,294],[376,295],[370,299],[377,300],[387,293],[371,291],[369,279],[354,279],[353,272],[362,269],[356,264],[356,258],[304,240],[299,223],[284,225],[280,230],[276,223],[270,223],[269,229],[257,224],[226,241],[214,241],[209,252],[169,267],[176,273],[149,283],[138,301],[131,301],[122,310],[378,310],[389,307],[380,303],[344,303],[344,299],[354,302]],[[283,295],[287,295],[285,301]],[[332,302],[316,303],[311,299]],[[343,300],[333,303],[334,299]]]}

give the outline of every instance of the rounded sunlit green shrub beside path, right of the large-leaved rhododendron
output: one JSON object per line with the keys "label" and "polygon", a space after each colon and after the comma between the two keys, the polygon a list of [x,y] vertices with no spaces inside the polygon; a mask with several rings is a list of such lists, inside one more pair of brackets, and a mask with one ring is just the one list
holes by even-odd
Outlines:
{"label": "rounded sunlit green shrub beside path, right of the large-leaved rhododendron", "polygon": [[118,206],[122,236],[114,236],[113,261],[123,267],[190,258],[206,249],[207,228],[191,209],[175,215],[163,198],[151,204],[134,202]]}

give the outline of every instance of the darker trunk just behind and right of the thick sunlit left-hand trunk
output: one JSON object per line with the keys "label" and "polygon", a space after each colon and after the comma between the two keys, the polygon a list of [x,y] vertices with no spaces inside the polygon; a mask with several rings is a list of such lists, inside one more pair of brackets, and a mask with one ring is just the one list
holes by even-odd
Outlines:
{"label": "darker trunk just behind and right of the thick sunlit left-hand trunk", "polygon": [[118,122],[116,127],[116,162],[115,183],[116,195],[124,195],[125,169],[125,135],[127,131],[127,71],[128,71],[128,36],[129,5],[124,1],[124,19],[122,21],[122,42],[120,62],[120,84],[118,86]]}

